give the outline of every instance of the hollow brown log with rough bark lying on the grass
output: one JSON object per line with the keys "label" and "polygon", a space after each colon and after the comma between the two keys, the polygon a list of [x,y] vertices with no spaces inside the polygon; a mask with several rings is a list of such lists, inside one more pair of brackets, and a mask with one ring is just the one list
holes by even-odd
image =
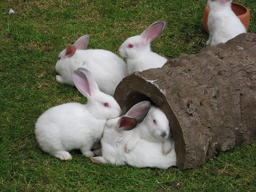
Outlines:
{"label": "hollow brown log with rough bark lying on the grass", "polygon": [[124,111],[150,100],[166,114],[179,169],[256,138],[256,34],[134,72],[116,88]]}

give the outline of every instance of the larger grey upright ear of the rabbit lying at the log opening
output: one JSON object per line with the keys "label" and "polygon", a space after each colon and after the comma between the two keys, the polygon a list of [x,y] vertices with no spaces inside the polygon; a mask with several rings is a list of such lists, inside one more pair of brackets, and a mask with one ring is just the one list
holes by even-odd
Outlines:
{"label": "larger grey upright ear of the rabbit lying at the log opening", "polygon": [[146,115],[148,114],[148,110],[150,109],[149,101],[142,101],[134,105],[125,116],[130,116],[132,118],[136,118],[138,123],[142,122]]}

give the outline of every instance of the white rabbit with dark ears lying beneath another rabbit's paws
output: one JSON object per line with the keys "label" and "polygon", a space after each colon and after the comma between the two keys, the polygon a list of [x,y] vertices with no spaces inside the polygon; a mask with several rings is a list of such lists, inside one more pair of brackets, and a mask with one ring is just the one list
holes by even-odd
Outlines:
{"label": "white rabbit with dark ears lying beneath another rabbit's paws", "polygon": [[[150,102],[140,102],[133,106],[126,115],[109,119],[101,139],[102,156],[92,157],[92,162],[109,163],[117,166],[128,164],[139,168],[166,169],[170,166],[176,166],[175,150],[164,155],[162,142],[148,142],[140,139],[130,153],[124,150],[125,143],[132,137],[132,129],[143,120],[149,108]],[[172,140],[172,145],[174,145],[174,140]]]}

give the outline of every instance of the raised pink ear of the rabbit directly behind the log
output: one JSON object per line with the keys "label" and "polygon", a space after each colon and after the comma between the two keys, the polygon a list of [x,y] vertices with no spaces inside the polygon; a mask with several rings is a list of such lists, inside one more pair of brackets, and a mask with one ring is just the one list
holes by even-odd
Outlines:
{"label": "raised pink ear of the rabbit directly behind the log", "polygon": [[157,22],[153,23],[152,25],[150,25],[140,35],[142,35],[143,38],[146,39],[146,41],[152,42],[156,38],[158,38],[158,36],[160,36],[160,34],[162,34],[162,32],[164,31],[166,25],[167,25],[167,21],[166,20],[157,21]]}

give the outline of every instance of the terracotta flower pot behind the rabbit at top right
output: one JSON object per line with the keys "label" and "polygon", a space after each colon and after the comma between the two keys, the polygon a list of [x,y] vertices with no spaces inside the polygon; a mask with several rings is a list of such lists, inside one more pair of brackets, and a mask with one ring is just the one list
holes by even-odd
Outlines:
{"label": "terracotta flower pot behind the rabbit at top right", "polygon": [[[248,30],[249,23],[250,23],[250,11],[248,10],[248,8],[235,2],[231,3],[231,8],[233,12],[236,14],[236,16],[240,19],[242,24],[244,24],[246,30]],[[209,33],[209,30],[207,26],[207,19],[208,19],[209,11],[210,9],[206,5],[204,8],[204,14],[203,14],[203,26],[204,26],[204,30],[206,30],[206,32],[208,33]]]}

